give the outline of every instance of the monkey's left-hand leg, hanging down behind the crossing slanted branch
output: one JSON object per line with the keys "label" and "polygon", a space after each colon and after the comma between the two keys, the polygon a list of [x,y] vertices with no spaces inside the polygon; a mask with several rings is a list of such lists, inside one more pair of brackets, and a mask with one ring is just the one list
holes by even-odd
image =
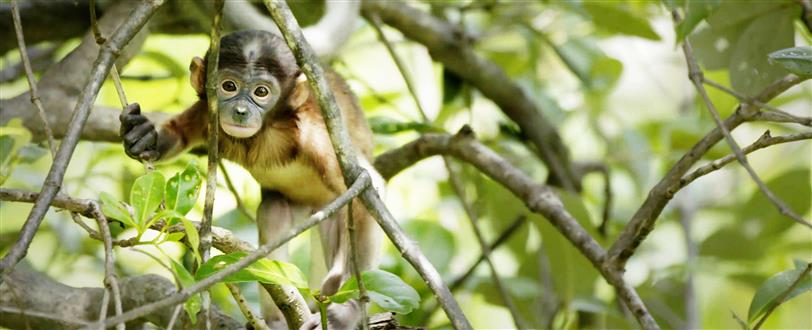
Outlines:
{"label": "monkey's left-hand leg, hanging down behind the crossing slanted branch", "polygon": [[[293,218],[293,210],[285,196],[276,191],[263,190],[262,202],[257,209],[259,244],[265,244],[287,233],[293,226]],[[288,245],[282,245],[271,251],[267,258],[288,261]],[[286,328],[282,312],[276,307],[271,296],[262,285],[259,286],[259,300],[265,322],[273,328]]]}

